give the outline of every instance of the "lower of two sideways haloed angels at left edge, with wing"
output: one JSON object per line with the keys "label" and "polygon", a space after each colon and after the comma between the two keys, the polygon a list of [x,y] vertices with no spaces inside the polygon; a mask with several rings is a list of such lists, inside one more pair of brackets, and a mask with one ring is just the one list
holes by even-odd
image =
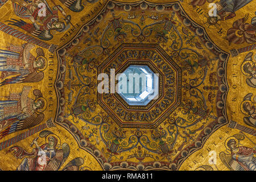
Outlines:
{"label": "lower of two sideways haloed angels at left edge, with wing", "polygon": [[43,121],[46,99],[38,89],[33,91],[35,100],[28,97],[31,88],[24,86],[21,93],[11,93],[7,100],[0,101],[0,139]]}

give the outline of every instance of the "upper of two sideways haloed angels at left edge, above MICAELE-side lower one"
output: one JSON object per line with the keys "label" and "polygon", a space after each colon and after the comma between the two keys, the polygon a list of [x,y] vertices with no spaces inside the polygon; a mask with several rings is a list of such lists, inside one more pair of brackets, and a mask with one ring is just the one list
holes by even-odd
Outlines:
{"label": "upper of two sideways haloed angels at left edge, above MICAELE-side lower one", "polygon": [[[35,46],[26,43],[22,47],[10,46],[9,50],[0,49],[0,86],[19,82],[38,82],[43,79],[42,72],[47,67],[42,48],[37,48],[37,56],[30,51]],[[7,78],[8,77],[8,78]]]}

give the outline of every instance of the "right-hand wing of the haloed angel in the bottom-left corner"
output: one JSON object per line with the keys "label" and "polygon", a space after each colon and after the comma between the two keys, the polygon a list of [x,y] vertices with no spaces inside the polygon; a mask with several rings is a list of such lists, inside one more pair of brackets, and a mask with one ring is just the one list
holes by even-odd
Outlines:
{"label": "right-hand wing of the haloed angel in the bottom-left corner", "polygon": [[46,167],[46,171],[57,171],[61,165],[67,160],[70,149],[67,143],[62,144],[62,149],[56,150],[55,157],[52,158]]}

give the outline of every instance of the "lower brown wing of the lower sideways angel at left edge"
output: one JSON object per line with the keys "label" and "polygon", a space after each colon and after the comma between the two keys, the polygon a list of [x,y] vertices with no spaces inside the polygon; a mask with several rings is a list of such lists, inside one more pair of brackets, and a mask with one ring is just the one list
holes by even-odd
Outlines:
{"label": "lower brown wing of the lower sideways angel at left edge", "polygon": [[21,131],[25,129],[29,129],[30,127],[38,125],[40,122],[42,122],[44,119],[44,114],[36,114],[34,113],[30,117],[23,119],[23,120],[17,120],[12,125],[8,126],[5,130],[1,131],[0,133],[0,139],[5,137],[6,135],[9,135],[11,133],[15,133],[16,131]]}

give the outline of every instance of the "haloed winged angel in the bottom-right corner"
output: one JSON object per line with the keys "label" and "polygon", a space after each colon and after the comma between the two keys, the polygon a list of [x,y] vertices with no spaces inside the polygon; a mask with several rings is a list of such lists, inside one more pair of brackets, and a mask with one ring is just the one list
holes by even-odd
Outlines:
{"label": "haloed winged angel in the bottom-right corner", "polygon": [[256,171],[255,146],[249,148],[240,146],[240,141],[245,137],[236,134],[225,141],[228,154],[220,152],[220,159],[231,171]]}

